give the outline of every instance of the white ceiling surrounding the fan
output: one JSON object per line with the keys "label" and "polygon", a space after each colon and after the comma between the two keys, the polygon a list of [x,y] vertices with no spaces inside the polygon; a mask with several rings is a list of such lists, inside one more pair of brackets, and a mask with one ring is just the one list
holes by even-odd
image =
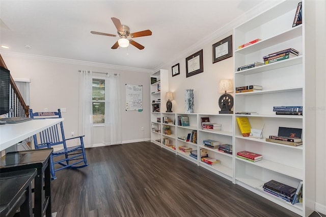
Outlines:
{"label": "white ceiling surrounding the fan", "polygon": [[[154,70],[262,3],[1,0],[0,44],[10,52]],[[114,50],[118,38],[90,33],[117,35],[111,17],[129,26],[131,33],[151,30],[152,36],[134,38],[145,49],[130,45]]]}

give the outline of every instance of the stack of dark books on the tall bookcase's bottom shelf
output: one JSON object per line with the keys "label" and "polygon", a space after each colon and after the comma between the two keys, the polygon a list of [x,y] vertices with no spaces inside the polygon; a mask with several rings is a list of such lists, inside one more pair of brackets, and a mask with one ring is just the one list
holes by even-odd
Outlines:
{"label": "stack of dark books on the tall bookcase's bottom shelf", "polygon": [[272,194],[276,197],[279,197],[287,202],[291,202],[295,192],[296,188],[291,187],[289,185],[283,184],[281,182],[275,181],[275,180],[270,180],[266,182],[263,185],[263,190],[265,192],[268,192],[269,194]]}

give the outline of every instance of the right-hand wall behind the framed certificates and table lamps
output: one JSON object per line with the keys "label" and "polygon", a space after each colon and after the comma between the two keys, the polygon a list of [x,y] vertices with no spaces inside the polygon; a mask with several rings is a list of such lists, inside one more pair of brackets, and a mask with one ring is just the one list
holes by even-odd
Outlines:
{"label": "right-hand wall behind the framed certificates and table lamps", "polygon": [[[194,89],[195,113],[218,113],[221,110],[218,105],[218,100],[222,95],[222,93],[219,93],[219,81],[225,78],[233,79],[233,57],[213,64],[212,45],[230,35],[232,35],[232,31],[202,47],[204,69],[202,73],[186,77],[185,68],[185,58],[201,48],[188,53],[187,56],[179,58],[172,64],[162,67],[169,70],[169,91],[173,92],[175,96],[172,101],[173,112],[185,112],[186,89]],[[172,77],[171,67],[177,63],[180,63],[180,74]]]}

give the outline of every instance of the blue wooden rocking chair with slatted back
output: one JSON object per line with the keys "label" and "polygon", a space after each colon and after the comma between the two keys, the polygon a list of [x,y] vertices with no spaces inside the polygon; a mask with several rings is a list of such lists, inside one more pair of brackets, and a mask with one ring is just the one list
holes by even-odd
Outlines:
{"label": "blue wooden rocking chair with slatted back", "polygon": [[[30,117],[33,119],[61,118],[60,109],[58,112],[35,112],[30,109]],[[62,121],[53,125],[38,134],[33,135],[35,149],[53,148],[50,157],[50,170],[52,180],[56,179],[56,172],[65,168],[78,169],[88,166],[84,148],[84,135],[66,139]],[[68,140],[79,139],[78,145],[67,147]]]}

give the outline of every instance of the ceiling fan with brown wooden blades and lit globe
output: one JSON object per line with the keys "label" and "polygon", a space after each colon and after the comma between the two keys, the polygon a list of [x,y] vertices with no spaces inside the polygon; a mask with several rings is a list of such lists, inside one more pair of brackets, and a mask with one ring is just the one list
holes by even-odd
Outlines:
{"label": "ceiling fan with brown wooden blades and lit globe", "polygon": [[120,37],[120,39],[111,47],[112,49],[117,49],[119,46],[128,47],[129,43],[140,50],[145,48],[143,45],[132,40],[132,38],[150,36],[152,35],[152,32],[150,30],[144,30],[137,33],[130,33],[129,27],[126,25],[122,25],[118,18],[111,17],[111,19],[118,30],[118,36],[113,34],[108,34],[108,33],[95,32],[95,31],[91,31],[91,33],[96,35],[103,35],[103,36]]}

